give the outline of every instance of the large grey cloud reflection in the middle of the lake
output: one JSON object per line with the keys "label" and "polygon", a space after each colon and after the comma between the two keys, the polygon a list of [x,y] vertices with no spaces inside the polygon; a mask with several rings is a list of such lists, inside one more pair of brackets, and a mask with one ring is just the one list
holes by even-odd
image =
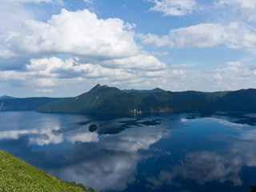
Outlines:
{"label": "large grey cloud reflection in the middle of the lake", "polygon": [[77,143],[67,154],[69,166],[53,170],[60,178],[82,182],[97,190],[125,190],[134,182],[138,162],[148,158],[138,153],[166,137],[168,131],[160,126],[142,126],[126,134],[108,135],[98,143]]}

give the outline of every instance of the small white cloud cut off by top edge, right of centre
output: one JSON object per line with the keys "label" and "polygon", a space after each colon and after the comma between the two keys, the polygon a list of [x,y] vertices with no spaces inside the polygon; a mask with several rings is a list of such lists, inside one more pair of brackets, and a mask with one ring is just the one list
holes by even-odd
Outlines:
{"label": "small white cloud cut off by top edge, right of centre", "polygon": [[150,0],[150,2],[154,2],[154,6],[150,10],[158,11],[168,16],[191,14],[196,9],[194,0]]}

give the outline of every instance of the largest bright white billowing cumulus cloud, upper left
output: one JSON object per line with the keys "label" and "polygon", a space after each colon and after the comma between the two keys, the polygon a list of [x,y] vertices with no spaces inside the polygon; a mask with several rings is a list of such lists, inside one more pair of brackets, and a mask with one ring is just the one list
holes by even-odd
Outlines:
{"label": "largest bright white billowing cumulus cloud, upper left", "polygon": [[89,10],[62,10],[47,22],[27,20],[6,43],[18,53],[66,53],[99,58],[138,54],[132,26],[118,18],[97,18]]}

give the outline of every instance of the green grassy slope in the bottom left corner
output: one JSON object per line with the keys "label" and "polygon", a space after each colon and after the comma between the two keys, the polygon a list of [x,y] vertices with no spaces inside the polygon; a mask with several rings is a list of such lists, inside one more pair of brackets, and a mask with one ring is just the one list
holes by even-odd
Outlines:
{"label": "green grassy slope in the bottom left corner", "polygon": [[0,191],[84,191],[0,150]]}

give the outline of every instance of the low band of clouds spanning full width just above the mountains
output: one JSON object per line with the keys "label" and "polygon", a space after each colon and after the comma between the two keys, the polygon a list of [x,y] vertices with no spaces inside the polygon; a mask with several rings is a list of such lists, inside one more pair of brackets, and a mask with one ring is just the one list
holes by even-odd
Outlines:
{"label": "low band of clouds spanning full width just above the mountains", "polygon": [[[55,86],[81,85],[90,82],[143,88],[159,86],[166,90],[238,90],[254,87],[256,69],[243,62],[227,62],[226,66],[214,70],[196,71],[178,69],[177,66],[161,70],[138,70],[127,66],[108,66],[83,63],[78,58],[40,58],[31,59],[26,70],[0,71],[0,82],[9,82],[13,86],[37,86],[36,90],[55,90]],[[149,65],[150,66],[150,65]],[[147,67],[147,66],[146,66]],[[245,86],[246,85],[246,86]],[[44,87],[43,89],[40,87]]]}

